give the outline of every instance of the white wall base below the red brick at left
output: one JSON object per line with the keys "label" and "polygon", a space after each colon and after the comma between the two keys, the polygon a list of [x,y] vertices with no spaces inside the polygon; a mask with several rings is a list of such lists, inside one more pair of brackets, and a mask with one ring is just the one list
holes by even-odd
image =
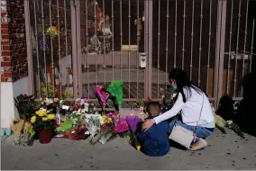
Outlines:
{"label": "white wall base below the red brick at left", "polygon": [[29,94],[28,76],[14,83],[1,84],[1,128],[9,128],[14,119],[18,118],[18,112],[14,105],[14,97],[19,94]]}

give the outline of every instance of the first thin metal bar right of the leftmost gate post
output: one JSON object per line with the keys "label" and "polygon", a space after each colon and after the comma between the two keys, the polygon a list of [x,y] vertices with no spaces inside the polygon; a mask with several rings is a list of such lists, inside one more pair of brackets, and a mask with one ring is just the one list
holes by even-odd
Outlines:
{"label": "first thin metal bar right of the leftmost gate post", "polygon": [[41,80],[40,80],[40,64],[39,64],[39,49],[38,49],[38,31],[37,31],[37,10],[35,1],[33,1],[33,12],[34,12],[34,28],[35,28],[35,46],[36,46],[36,59],[37,59],[37,75],[38,75],[38,92],[41,98]]}

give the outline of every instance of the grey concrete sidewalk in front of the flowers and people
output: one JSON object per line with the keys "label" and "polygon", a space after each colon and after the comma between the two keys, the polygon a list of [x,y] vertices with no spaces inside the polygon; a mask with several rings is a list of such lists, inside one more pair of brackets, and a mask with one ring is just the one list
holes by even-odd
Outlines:
{"label": "grey concrete sidewalk in front of the flowers and people", "polygon": [[219,130],[207,139],[209,146],[191,152],[171,148],[165,157],[146,157],[126,139],[91,146],[87,140],[52,139],[17,147],[11,138],[1,149],[1,169],[256,169],[256,138],[241,139],[232,130]]}

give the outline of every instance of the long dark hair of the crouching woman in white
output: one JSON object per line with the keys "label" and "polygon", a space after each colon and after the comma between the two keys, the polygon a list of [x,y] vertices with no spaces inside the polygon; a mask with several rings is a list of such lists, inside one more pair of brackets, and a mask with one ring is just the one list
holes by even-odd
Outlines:
{"label": "long dark hair of the crouching woman in white", "polygon": [[[169,72],[169,79],[175,79],[176,85],[177,85],[177,93],[182,94],[183,102],[187,102],[187,98],[190,98],[191,96],[191,88],[197,91],[198,94],[204,94],[204,91],[190,81],[190,79],[187,76],[187,73],[184,70],[174,68]],[[188,96],[184,94],[183,88],[187,89]]]}

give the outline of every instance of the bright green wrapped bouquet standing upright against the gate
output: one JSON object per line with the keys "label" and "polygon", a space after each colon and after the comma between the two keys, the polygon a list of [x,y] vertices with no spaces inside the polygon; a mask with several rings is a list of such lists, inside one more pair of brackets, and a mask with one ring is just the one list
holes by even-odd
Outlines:
{"label": "bright green wrapped bouquet standing upright against the gate", "polygon": [[122,108],[123,104],[123,80],[115,80],[107,87],[108,93],[114,96],[118,109]]}

